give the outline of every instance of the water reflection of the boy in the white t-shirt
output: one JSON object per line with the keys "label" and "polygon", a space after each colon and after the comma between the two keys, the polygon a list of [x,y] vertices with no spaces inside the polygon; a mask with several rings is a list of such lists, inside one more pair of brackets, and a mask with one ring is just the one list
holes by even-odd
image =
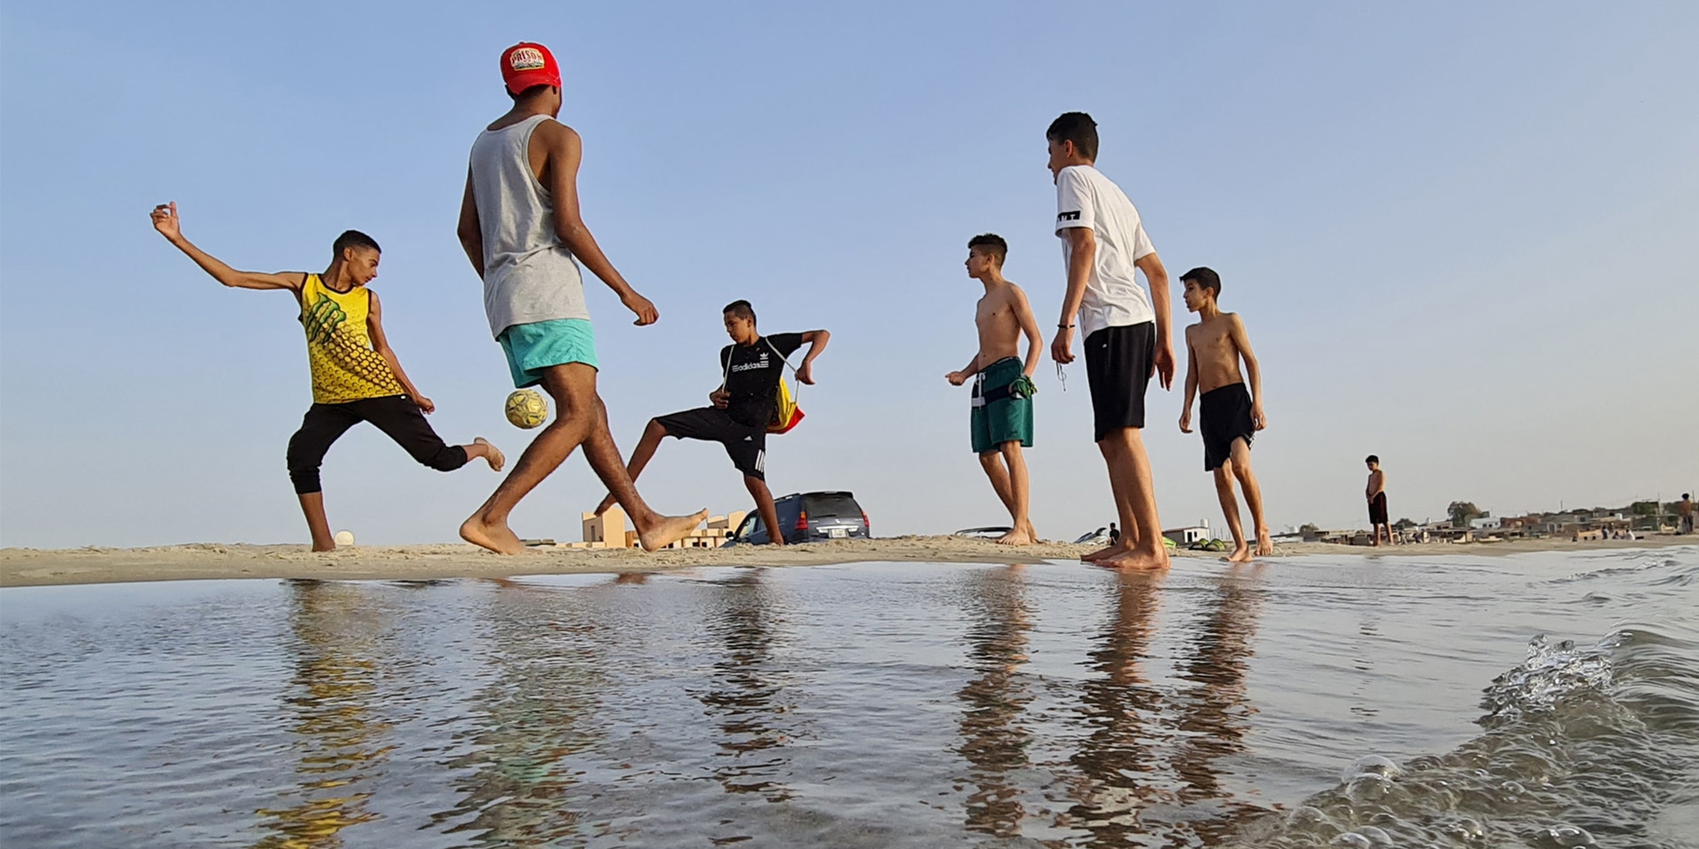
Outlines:
{"label": "water reflection of the boy in the white t-shirt", "polygon": [[1072,757],[1084,781],[1079,801],[1067,812],[1072,825],[1091,832],[1087,846],[1130,846],[1130,837],[1143,832],[1137,808],[1155,793],[1149,776],[1138,773],[1154,767],[1149,730],[1162,710],[1162,693],[1140,664],[1149,655],[1164,577],[1115,574],[1115,615],[1087,655],[1103,674],[1081,684],[1081,711],[1091,732]]}

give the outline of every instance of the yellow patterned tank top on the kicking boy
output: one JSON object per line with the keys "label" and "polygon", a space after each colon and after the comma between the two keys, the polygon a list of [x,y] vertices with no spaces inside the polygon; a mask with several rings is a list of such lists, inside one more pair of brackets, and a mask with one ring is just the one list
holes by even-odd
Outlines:
{"label": "yellow patterned tank top on the kicking boy", "polygon": [[365,331],[370,311],[372,294],[365,287],[336,292],[319,275],[308,275],[301,287],[301,326],[308,331],[316,404],[406,394],[389,363],[372,350],[372,335]]}

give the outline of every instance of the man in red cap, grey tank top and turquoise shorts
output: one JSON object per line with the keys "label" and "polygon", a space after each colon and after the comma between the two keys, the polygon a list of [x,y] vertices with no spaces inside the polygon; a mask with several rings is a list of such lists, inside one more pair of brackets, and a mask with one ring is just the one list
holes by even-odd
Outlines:
{"label": "man in red cap, grey tank top and turquoise shorts", "polygon": [[523,552],[508,514],[583,445],[590,467],[637,526],[642,547],[661,548],[695,530],[708,511],[663,516],[632,486],[596,396],[596,343],[578,261],[620,295],[639,326],[659,314],[620,277],[579,216],[583,143],[556,121],[561,68],[554,54],[542,44],[515,44],[501,54],[501,80],[513,109],[472,143],[460,246],[484,280],[489,333],[506,353],[513,385],[542,384],[557,414],[484,506],[460,525],[460,537],[498,554]]}

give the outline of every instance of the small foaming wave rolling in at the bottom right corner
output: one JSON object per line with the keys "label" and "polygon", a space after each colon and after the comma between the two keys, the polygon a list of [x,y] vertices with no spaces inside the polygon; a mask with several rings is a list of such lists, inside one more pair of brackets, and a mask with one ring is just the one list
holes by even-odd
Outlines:
{"label": "small foaming wave rolling in at the bottom right corner", "polygon": [[1592,645],[1538,635],[1482,696],[1483,734],[1398,764],[1364,756],[1335,788],[1249,824],[1230,846],[1634,846],[1699,803],[1699,640],[1621,625]]}

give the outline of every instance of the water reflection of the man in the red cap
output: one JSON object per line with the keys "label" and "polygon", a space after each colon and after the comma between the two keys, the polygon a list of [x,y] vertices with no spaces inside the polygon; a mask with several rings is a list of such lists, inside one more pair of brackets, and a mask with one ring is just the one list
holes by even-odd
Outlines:
{"label": "water reflection of the man in the red cap", "polygon": [[[588,815],[567,759],[601,742],[593,723],[607,662],[595,603],[552,588],[498,582],[483,618],[494,681],[472,696],[474,749],[449,761],[471,769],[464,795],[435,822],[477,832],[484,846],[535,846],[574,834]],[[552,846],[552,844],[550,844]]]}

